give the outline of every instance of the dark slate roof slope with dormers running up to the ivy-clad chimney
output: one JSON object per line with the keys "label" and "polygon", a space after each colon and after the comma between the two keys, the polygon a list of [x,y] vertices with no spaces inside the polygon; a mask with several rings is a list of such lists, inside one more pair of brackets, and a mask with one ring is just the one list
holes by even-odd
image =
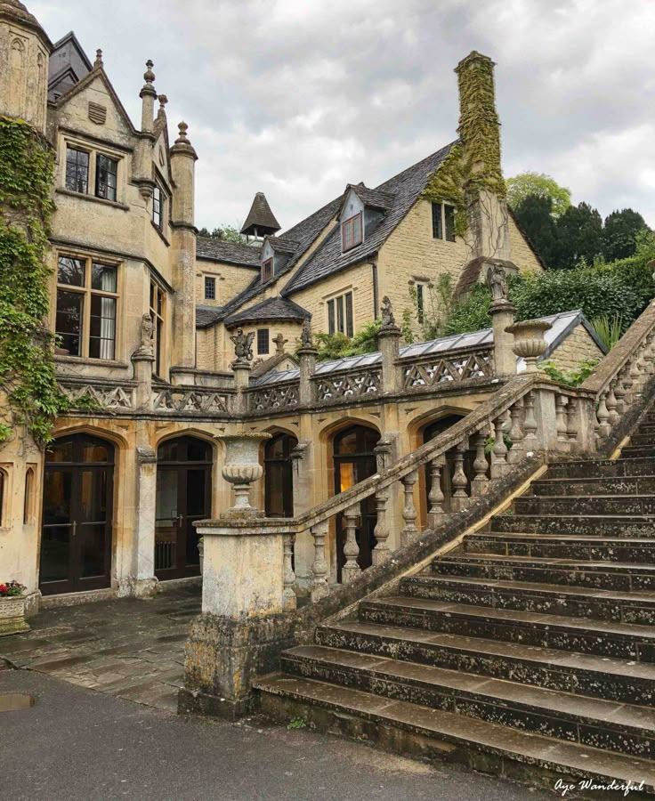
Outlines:
{"label": "dark slate roof slope with dormers running up to the ivy-clad chimney", "polygon": [[423,161],[408,167],[389,181],[376,187],[375,192],[378,198],[392,198],[389,210],[376,228],[367,232],[367,237],[361,245],[352,247],[346,253],[342,253],[341,231],[338,229],[332,231],[311,255],[311,258],[295,273],[293,279],[282,290],[282,294],[289,295],[298,289],[308,287],[328,275],[344,270],[352,264],[374,255],[414,205],[431,175],[439,169],[454,144],[455,142],[451,142],[445,148],[437,150],[432,156],[424,158]]}

